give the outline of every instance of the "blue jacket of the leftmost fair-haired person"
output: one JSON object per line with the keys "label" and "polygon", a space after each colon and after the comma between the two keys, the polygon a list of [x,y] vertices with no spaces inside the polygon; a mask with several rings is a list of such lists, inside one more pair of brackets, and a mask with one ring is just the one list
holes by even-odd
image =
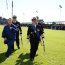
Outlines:
{"label": "blue jacket of the leftmost fair-haired person", "polygon": [[[11,29],[10,29],[11,28]],[[11,24],[11,26],[9,26],[8,24],[5,25],[3,32],[2,32],[2,37],[3,38],[7,38],[8,40],[13,40],[16,37],[16,32],[17,32],[17,28],[14,24]]]}

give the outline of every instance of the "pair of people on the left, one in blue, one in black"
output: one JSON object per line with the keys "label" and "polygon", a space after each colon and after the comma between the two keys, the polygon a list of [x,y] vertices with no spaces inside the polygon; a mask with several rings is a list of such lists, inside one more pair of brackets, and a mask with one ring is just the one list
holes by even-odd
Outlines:
{"label": "pair of people on the left, one in blue, one in black", "polygon": [[20,49],[19,34],[22,34],[22,30],[16,16],[13,16],[12,19],[9,18],[7,22],[8,24],[4,26],[2,37],[4,38],[4,43],[8,46],[6,52],[8,57],[14,51],[14,41],[16,41],[18,49]]}

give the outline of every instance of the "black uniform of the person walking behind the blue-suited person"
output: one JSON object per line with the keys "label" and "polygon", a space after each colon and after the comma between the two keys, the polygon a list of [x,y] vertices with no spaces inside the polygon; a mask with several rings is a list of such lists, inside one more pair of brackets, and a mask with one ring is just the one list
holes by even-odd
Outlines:
{"label": "black uniform of the person walking behind the blue-suited person", "polygon": [[18,32],[16,33],[16,45],[18,47],[18,49],[20,48],[20,42],[19,42],[19,33],[22,34],[22,30],[21,30],[21,25],[18,21],[16,21],[15,23],[13,22],[14,25],[16,25],[16,27],[18,28]]}

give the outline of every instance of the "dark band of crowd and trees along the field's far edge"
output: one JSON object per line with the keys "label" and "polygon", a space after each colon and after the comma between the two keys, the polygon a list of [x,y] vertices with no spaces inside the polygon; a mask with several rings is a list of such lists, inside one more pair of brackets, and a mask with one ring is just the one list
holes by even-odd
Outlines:
{"label": "dark band of crowd and trees along the field's far edge", "polygon": [[[43,25],[43,27],[46,28],[46,29],[65,30],[65,24],[62,24],[62,23],[58,23],[58,24],[56,22],[45,23],[43,21],[43,19],[39,19],[38,22],[41,23]],[[0,17],[0,24],[1,25],[7,24],[7,19]],[[28,27],[30,24],[31,23],[29,23],[29,22],[21,23],[21,26]]]}

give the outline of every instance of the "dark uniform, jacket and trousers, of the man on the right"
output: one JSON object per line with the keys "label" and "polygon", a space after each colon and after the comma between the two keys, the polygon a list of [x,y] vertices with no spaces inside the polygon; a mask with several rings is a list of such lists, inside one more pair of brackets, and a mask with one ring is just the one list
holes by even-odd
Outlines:
{"label": "dark uniform, jacket and trousers, of the man on the right", "polygon": [[41,25],[37,24],[34,26],[33,24],[29,25],[27,31],[27,37],[30,40],[30,59],[34,59],[36,55],[36,51],[38,50],[38,45],[40,41],[40,36],[43,34],[43,30]]}

